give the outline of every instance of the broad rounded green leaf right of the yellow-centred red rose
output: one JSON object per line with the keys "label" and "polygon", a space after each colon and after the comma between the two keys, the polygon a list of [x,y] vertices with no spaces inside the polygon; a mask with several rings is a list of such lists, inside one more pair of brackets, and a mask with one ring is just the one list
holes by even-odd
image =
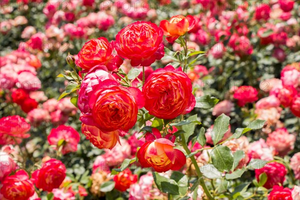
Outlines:
{"label": "broad rounded green leaf right of the yellow-centred red rose", "polygon": [[233,164],[233,155],[227,146],[216,146],[210,152],[213,166],[219,171],[230,171]]}

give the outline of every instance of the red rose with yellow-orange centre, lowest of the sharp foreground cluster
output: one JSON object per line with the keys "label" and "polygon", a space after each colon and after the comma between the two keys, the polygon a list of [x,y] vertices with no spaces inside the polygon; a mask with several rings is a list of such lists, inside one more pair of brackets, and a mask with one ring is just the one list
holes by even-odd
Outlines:
{"label": "red rose with yellow-orange centre, lowest of the sharp foreground cluster", "polygon": [[[156,135],[156,138],[159,136]],[[146,143],[137,151],[138,161],[143,167],[152,166],[157,172],[165,172],[170,169],[178,170],[185,164],[184,153],[175,149],[172,141],[166,138],[152,139],[148,140],[146,137]]]}

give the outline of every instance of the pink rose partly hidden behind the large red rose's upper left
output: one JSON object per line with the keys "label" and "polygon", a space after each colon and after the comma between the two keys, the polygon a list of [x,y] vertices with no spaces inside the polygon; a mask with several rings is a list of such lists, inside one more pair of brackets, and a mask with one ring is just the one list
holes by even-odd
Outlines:
{"label": "pink rose partly hidden behind the large red rose's upper left", "polygon": [[101,81],[105,79],[115,80],[114,76],[107,72],[106,66],[96,65],[89,69],[81,82],[78,92],[77,104],[81,112],[90,112],[90,108],[88,107],[88,97],[93,93],[92,87],[101,84]]}

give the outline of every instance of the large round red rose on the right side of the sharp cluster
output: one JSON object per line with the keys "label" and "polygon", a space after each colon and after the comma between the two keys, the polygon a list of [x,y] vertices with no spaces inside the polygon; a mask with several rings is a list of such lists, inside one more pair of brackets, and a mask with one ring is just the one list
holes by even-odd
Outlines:
{"label": "large round red rose on the right side of the sharp cluster", "polygon": [[142,93],[145,108],[158,118],[172,119],[190,112],[195,106],[191,81],[181,69],[171,65],[156,69],[146,79]]}

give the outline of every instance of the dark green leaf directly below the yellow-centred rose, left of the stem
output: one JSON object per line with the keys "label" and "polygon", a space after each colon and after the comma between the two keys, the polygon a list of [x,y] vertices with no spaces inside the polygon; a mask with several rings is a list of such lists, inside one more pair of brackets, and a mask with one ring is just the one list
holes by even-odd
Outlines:
{"label": "dark green leaf directly below the yellow-centred rose, left of the stem", "polygon": [[152,172],[152,175],[160,191],[174,195],[179,194],[178,184],[175,180],[161,176],[157,172]]}

